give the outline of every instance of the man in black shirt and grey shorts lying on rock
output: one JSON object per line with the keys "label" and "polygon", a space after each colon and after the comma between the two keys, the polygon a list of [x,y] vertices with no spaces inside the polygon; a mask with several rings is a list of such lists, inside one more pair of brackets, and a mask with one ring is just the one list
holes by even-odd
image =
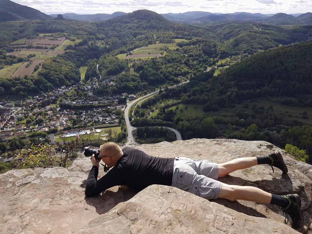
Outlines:
{"label": "man in black shirt and grey shorts lying on rock", "polygon": [[[138,149],[120,147],[115,142],[100,146],[99,160],[91,157],[92,169],[89,173],[85,195],[95,196],[116,185],[127,185],[144,189],[152,184],[162,184],[180,188],[207,199],[223,198],[230,201],[246,200],[251,202],[271,203],[280,206],[286,213],[285,221],[291,217],[292,227],[299,229],[303,218],[298,194],[275,195],[251,186],[228,185],[217,181],[218,178],[244,168],[258,164],[269,164],[283,173],[288,169],[278,151],[261,157],[236,158],[226,163],[211,163],[207,160],[189,158],[157,158]],[[97,180],[99,161],[110,169]],[[273,169],[274,172],[274,169]]]}

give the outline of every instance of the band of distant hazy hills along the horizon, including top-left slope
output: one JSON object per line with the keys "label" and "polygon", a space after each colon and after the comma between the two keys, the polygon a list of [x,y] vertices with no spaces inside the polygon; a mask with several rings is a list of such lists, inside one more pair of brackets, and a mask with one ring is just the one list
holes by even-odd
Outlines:
{"label": "band of distant hazy hills along the horizon, including top-left slope", "polygon": [[[140,11],[140,10],[139,10]],[[145,10],[148,11],[148,10]],[[136,11],[135,11],[136,12]],[[184,13],[167,13],[158,14],[156,12],[148,11],[144,15],[144,19],[149,18],[147,15],[153,15],[151,17],[157,20],[167,19],[176,22],[214,22],[222,20],[239,20],[239,21],[258,21],[264,23],[273,23],[279,25],[285,24],[312,24],[312,13],[307,12],[305,14],[261,14],[261,13],[248,13],[248,12],[234,12],[234,13],[211,13],[202,11],[184,12]],[[132,12],[133,13],[133,12]],[[128,13],[128,14],[132,14]],[[142,12],[141,12],[142,13]],[[113,14],[76,14],[66,13],[61,14],[65,19],[71,20],[84,20],[84,21],[106,21],[115,17],[128,15],[125,12],[114,12]],[[157,15],[157,17],[155,16]],[[15,20],[44,20],[57,17],[57,14],[46,15],[34,8],[22,6],[10,0],[0,0],[0,22],[15,21]],[[162,20],[163,20],[162,19]]]}

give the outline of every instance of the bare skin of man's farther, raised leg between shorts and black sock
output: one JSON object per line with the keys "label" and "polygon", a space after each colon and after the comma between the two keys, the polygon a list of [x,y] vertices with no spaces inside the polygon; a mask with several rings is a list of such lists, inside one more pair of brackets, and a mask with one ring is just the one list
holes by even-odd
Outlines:
{"label": "bare skin of man's farther, raised leg between shorts and black sock", "polygon": [[256,157],[250,158],[236,158],[226,163],[218,164],[219,174],[218,177],[224,177],[227,174],[245,168],[250,168],[252,166],[258,165]]}

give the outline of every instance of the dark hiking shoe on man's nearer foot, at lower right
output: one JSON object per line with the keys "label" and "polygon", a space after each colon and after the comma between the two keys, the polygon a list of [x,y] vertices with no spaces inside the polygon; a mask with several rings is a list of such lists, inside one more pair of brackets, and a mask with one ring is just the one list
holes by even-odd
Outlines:
{"label": "dark hiking shoe on man's nearer foot, at lower right", "polygon": [[[288,194],[284,197],[289,201],[289,205],[286,207],[281,207],[283,215],[285,214],[285,223],[288,223],[289,217],[292,220],[292,228],[299,229],[302,226],[303,217],[301,212],[301,200],[298,194]],[[286,222],[287,219],[287,222]]]}

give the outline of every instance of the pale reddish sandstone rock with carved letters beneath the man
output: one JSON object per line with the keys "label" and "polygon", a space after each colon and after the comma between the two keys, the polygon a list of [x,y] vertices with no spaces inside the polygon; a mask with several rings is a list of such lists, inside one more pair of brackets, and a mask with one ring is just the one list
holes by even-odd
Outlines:
{"label": "pale reddish sandstone rock with carved letters beneath the man", "polygon": [[[191,139],[133,146],[158,157],[188,157],[222,163],[280,150],[264,141]],[[122,147],[123,148],[123,147]],[[281,151],[281,150],[280,150]],[[222,182],[270,193],[298,193],[304,225],[312,233],[312,166],[281,151],[288,174],[267,165],[243,169]],[[101,166],[100,166],[101,167]],[[12,170],[0,175],[0,233],[297,233],[270,204],[206,200],[176,188],[152,185],[142,191],[113,187],[85,197],[90,159],[65,168]],[[105,173],[100,168],[99,178]]]}

